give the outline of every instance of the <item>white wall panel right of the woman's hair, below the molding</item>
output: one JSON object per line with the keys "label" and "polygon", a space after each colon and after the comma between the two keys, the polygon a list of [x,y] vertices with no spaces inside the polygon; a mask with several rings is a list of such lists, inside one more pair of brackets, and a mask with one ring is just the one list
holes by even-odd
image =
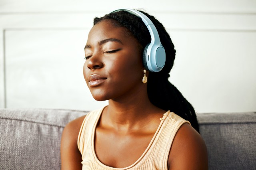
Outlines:
{"label": "white wall panel right of the woman's hair, below the molding", "polygon": [[196,111],[256,109],[256,32],[169,32],[177,50],[170,81]]}

